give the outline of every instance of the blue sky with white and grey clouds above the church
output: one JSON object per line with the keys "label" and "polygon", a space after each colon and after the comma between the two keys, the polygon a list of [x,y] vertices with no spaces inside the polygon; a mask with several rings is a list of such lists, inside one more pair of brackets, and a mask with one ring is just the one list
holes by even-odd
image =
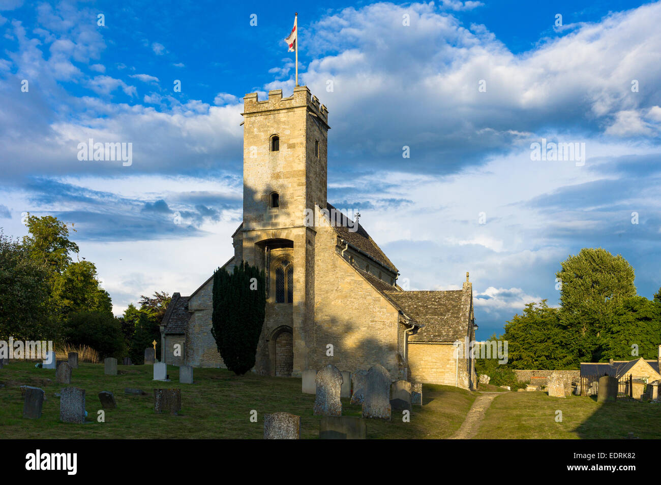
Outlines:
{"label": "blue sky with white and grey clouds above the church", "polygon": [[[360,210],[410,289],[469,271],[480,338],[527,302],[557,304],[555,272],[582,247],[621,253],[639,294],[658,290],[660,3],[291,9],[0,0],[5,234],[24,235],[28,211],[73,223],[115,313],[190,294],[231,257],[241,98],[292,91],[297,10],[300,80],[329,108],[329,201]],[[89,138],[132,143],[133,163],[78,160]],[[584,164],[531,160],[541,139],[584,143]]]}

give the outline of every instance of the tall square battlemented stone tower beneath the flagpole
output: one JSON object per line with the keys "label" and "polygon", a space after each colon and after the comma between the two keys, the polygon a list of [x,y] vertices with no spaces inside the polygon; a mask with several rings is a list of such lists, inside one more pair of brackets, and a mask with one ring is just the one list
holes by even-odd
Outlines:
{"label": "tall square battlemented stone tower beneath the flagpole", "polygon": [[315,298],[316,231],[305,226],[305,210],[326,207],[328,110],[297,86],[289,98],[282,90],[264,101],[247,94],[243,117],[243,226],[235,261],[265,269],[275,296],[267,302],[268,337],[258,366],[287,373],[285,363],[270,356],[280,354],[275,346],[293,345],[289,372],[300,373],[313,344]]}

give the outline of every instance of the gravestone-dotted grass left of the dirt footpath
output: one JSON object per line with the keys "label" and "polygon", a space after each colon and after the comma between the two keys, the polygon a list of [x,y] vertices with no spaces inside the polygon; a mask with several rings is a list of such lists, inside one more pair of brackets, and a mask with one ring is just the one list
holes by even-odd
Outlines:
{"label": "gravestone-dotted grass left of the dirt footpath", "polygon": [[[178,368],[168,366],[172,382],[151,380],[151,366],[118,366],[120,375],[103,373],[102,364],[80,364],[73,370],[71,385],[86,392],[89,413],[85,425],[59,422],[59,393],[55,370],[37,369],[30,362],[13,362],[0,369],[0,438],[261,438],[264,413],[286,411],[301,416],[301,437],[319,436],[319,416],[313,416],[314,395],[301,393],[301,379],[260,377],[249,373],[236,376],[227,370],[195,369],[195,383],[178,383]],[[46,379],[52,379],[47,382]],[[46,391],[42,417],[22,418],[19,385],[35,385]],[[125,387],[137,387],[146,396],[124,394]],[[179,416],[156,414],[155,387],[180,387],[182,412]],[[111,391],[116,410],[106,410],[106,422],[97,422],[98,393]],[[409,423],[393,414],[392,422],[368,420],[369,438],[443,438],[451,436],[463,422],[475,395],[463,389],[425,385],[425,406],[414,406]],[[345,415],[360,416],[360,406],[342,399]],[[258,422],[249,420],[251,410]]]}

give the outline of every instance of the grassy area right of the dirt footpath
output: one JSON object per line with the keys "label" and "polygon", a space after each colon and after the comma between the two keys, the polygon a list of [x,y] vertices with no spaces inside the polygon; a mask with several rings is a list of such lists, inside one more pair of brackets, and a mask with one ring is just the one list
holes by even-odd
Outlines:
{"label": "grassy area right of the dirt footpath", "polygon": [[[563,422],[555,422],[556,410]],[[661,404],[619,399],[598,404],[590,397],[549,397],[542,392],[504,393],[486,410],[475,436],[489,438],[661,438]]]}

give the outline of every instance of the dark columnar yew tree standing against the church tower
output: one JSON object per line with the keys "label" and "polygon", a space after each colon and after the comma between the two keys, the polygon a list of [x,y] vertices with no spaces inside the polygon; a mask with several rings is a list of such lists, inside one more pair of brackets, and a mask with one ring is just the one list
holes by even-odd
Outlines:
{"label": "dark columnar yew tree standing against the church tower", "polygon": [[214,273],[212,335],[227,369],[243,375],[254,367],[266,315],[264,271],[242,261],[230,275]]}

